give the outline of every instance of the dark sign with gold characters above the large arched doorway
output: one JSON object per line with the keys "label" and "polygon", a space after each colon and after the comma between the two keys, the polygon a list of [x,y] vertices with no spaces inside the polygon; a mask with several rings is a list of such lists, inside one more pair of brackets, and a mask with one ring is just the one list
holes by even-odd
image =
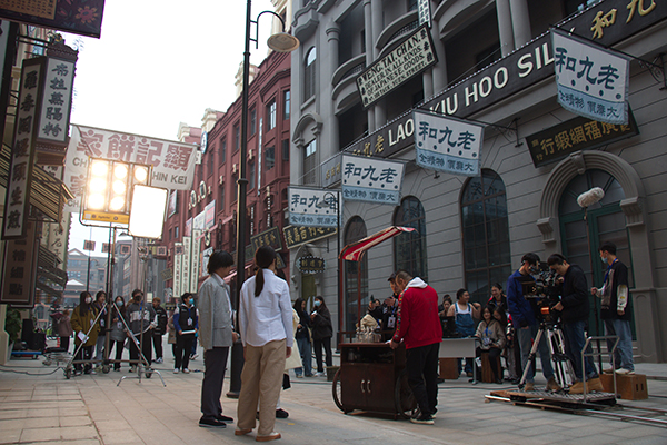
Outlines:
{"label": "dark sign with gold characters above the large arched doorway", "polygon": [[535,167],[542,167],[565,159],[579,150],[590,150],[607,144],[638,135],[639,129],[629,112],[629,125],[598,122],[576,117],[557,126],[526,137]]}

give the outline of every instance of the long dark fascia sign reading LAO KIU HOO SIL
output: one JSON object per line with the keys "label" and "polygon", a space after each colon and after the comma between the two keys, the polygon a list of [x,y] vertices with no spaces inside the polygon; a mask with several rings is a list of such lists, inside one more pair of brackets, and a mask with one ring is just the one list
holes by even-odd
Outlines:
{"label": "long dark fascia sign reading LAO KIU HOO SIL", "polygon": [[[644,3],[648,3],[648,0]],[[606,0],[564,20],[559,28],[603,46],[615,44],[667,18],[667,2],[644,4],[637,0]],[[613,20],[611,20],[613,19]],[[554,51],[549,31],[452,85],[419,108],[468,118],[518,91],[554,75]],[[376,132],[345,148],[358,156],[387,158],[415,144],[412,110]]]}

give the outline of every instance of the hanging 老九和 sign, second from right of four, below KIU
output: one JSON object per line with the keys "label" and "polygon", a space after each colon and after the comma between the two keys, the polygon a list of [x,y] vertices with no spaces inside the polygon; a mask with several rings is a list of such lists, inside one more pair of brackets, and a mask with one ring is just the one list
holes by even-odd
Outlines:
{"label": "hanging \u8001\u4e5d\u548c sign, second from right of four, below KIU", "polygon": [[415,110],[417,165],[452,175],[478,176],[484,127]]}

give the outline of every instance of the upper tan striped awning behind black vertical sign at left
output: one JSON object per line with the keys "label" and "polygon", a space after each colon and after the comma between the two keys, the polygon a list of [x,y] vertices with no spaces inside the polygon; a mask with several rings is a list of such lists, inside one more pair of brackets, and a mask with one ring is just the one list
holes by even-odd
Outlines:
{"label": "upper tan striped awning behind black vertical sign at left", "polygon": [[[11,148],[2,145],[0,150],[0,186],[7,188]],[[32,185],[30,187],[30,204],[39,209],[52,222],[60,222],[62,207],[74,196],[67,186],[57,178],[47,174],[39,166],[32,169]]]}

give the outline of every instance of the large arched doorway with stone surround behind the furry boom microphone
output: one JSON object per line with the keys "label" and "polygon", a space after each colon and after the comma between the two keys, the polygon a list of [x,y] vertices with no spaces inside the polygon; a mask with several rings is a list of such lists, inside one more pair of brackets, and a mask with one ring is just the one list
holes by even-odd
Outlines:
{"label": "large arched doorway with stone surround behind the furry boom microphone", "polygon": [[[577,204],[577,197],[593,187],[605,190],[605,197],[585,210]],[[569,264],[576,264],[584,269],[588,287],[603,285],[606,267],[598,259],[598,248],[605,241],[616,245],[616,255],[628,267],[630,288],[634,287],[630,244],[626,218],[620,209],[623,199],[625,194],[616,178],[606,171],[595,169],[576,176],[560,196],[558,219],[563,255]],[[599,317],[599,304],[593,297],[590,304],[591,335],[604,335],[604,324],[599,319],[596,322],[596,314]]]}

